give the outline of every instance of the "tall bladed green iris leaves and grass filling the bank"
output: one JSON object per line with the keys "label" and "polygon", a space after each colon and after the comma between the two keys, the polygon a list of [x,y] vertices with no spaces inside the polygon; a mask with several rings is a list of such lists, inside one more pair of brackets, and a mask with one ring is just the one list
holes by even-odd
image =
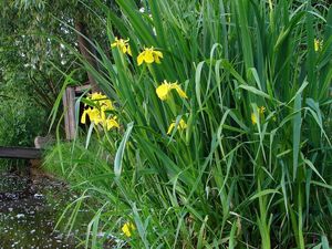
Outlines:
{"label": "tall bladed green iris leaves and grass filling the bank", "polygon": [[[96,45],[100,69],[82,63],[116,102],[122,128],[90,129],[85,143],[59,144],[48,157],[100,204],[86,248],[98,231],[133,248],[329,248],[331,7],[147,0],[142,13],[116,2],[122,18],[93,9],[107,17],[110,43],[113,32],[129,39],[133,56]],[[138,66],[151,46],[162,63]],[[164,80],[188,98],[160,101]],[[129,239],[126,222],[136,228]]]}

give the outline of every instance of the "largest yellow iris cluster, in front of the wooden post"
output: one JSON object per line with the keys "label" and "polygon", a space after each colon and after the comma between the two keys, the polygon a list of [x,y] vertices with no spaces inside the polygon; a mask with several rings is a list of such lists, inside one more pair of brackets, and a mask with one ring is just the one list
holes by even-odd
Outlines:
{"label": "largest yellow iris cluster, in front of the wooden post", "polygon": [[93,93],[86,97],[86,100],[92,101],[94,106],[89,106],[84,110],[81,116],[81,123],[86,123],[86,116],[95,125],[103,125],[107,131],[112,128],[118,128],[120,125],[116,122],[116,116],[106,116],[107,111],[113,111],[114,106],[111,100],[103,95],[102,93]]}

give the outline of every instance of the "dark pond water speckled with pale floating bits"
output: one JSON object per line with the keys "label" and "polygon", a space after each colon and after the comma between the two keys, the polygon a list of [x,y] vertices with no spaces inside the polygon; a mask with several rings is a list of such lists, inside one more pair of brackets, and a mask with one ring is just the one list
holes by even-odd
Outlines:
{"label": "dark pond water speckled with pale floating bits", "polygon": [[0,248],[76,248],[85,228],[71,236],[54,230],[74,198],[61,181],[0,173]]}

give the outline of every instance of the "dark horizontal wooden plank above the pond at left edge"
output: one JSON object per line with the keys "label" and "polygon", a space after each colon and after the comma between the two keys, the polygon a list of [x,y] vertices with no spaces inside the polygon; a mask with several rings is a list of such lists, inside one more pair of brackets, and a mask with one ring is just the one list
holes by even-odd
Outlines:
{"label": "dark horizontal wooden plank above the pond at left edge", "polygon": [[41,158],[41,149],[0,146],[0,158],[38,159]]}

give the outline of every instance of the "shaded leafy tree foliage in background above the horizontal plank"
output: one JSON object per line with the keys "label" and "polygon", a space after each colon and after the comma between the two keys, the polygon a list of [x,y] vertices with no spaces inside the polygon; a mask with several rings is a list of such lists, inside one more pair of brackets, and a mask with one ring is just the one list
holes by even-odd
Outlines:
{"label": "shaded leafy tree foliage in background above the horizontal plank", "polygon": [[[79,21],[100,41],[102,32],[79,1],[3,0],[0,8],[0,144],[33,146],[34,136],[48,133],[64,74],[82,66],[59,40],[79,51],[69,28]],[[86,73],[76,80],[85,83]]]}

